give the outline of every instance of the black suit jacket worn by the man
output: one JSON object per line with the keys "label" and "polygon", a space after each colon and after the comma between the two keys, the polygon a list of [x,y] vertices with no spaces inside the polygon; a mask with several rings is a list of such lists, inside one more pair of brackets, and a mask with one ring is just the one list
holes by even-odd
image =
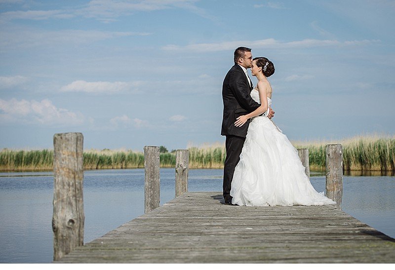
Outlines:
{"label": "black suit jacket worn by the man", "polygon": [[227,73],[222,84],[222,100],[224,102],[224,115],[222,118],[221,135],[235,135],[245,137],[249,121],[241,127],[235,126],[238,116],[255,111],[260,105],[251,96],[248,79],[242,68],[235,64]]}

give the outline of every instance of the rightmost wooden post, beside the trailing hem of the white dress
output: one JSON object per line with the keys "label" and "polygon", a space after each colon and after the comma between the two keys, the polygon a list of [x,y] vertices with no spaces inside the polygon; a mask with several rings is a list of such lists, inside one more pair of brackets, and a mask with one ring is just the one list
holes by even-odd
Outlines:
{"label": "rightmost wooden post, beside the trailing hem of the white dress", "polygon": [[342,209],[343,196],[343,147],[341,144],[326,145],[326,196]]}

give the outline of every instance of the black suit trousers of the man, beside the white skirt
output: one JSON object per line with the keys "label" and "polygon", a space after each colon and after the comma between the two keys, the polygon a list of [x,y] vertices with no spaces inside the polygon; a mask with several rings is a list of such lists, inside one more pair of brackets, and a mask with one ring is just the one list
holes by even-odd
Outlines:
{"label": "black suit trousers of the man, beside the white skirt", "polygon": [[224,183],[223,183],[223,195],[225,202],[232,202],[231,188],[233,173],[235,172],[235,167],[240,160],[241,150],[244,145],[245,138],[226,135],[226,158],[224,164]]}

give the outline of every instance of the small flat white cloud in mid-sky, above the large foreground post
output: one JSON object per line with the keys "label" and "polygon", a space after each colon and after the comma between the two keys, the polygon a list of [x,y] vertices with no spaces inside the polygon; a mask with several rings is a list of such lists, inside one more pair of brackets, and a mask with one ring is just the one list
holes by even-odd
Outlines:
{"label": "small flat white cloud in mid-sky, above the large foreground post", "polygon": [[62,92],[86,92],[86,93],[104,93],[111,94],[123,91],[138,91],[138,87],[142,85],[142,81],[134,82],[109,82],[94,81],[88,82],[84,80],[76,80],[72,83],[60,88]]}

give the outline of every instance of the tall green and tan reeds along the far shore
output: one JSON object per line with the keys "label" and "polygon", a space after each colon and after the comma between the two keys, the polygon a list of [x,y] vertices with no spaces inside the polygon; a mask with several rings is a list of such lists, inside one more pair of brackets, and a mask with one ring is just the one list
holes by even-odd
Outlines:
{"label": "tall green and tan reeds along the far shore", "polygon": [[[309,150],[310,170],[325,170],[325,147],[334,142],[293,142]],[[395,136],[358,136],[337,140],[343,145],[343,168],[351,171],[395,171]],[[223,168],[225,146],[188,147],[189,168]],[[144,153],[127,150],[86,150],[84,169],[144,168]],[[175,153],[160,153],[161,167],[175,167]],[[1,171],[43,171],[53,169],[52,150],[0,151]]]}

